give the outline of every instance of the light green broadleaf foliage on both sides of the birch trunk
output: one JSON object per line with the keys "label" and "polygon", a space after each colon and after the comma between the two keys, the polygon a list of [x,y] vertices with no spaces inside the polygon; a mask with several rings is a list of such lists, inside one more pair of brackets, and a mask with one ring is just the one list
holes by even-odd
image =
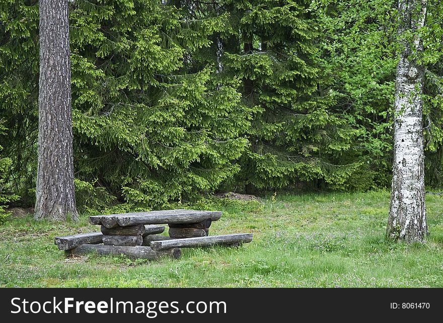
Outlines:
{"label": "light green broadleaf foliage on both sides of the birch trunk", "polygon": [[[394,1],[329,1],[311,4],[324,35],[320,66],[329,76],[336,97],[334,110],[357,130],[348,160],[360,160],[359,170],[343,188],[389,187],[392,171],[392,103],[399,46]],[[424,137],[426,183],[441,186],[441,16],[440,2],[428,3],[423,38],[425,65]]]}

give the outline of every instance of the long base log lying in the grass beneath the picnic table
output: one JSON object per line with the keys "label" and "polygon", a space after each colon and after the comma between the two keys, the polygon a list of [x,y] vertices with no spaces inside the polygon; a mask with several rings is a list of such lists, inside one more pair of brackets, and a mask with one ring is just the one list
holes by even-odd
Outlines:
{"label": "long base log lying in the grass beneath the picnic table", "polygon": [[105,245],[90,245],[84,244],[71,250],[72,255],[85,255],[89,253],[98,253],[99,255],[126,255],[130,258],[142,258],[142,259],[157,259],[164,256],[169,256],[174,259],[179,259],[181,256],[181,250],[178,248],[172,248],[162,251],[154,251],[151,247],[145,246],[105,246]]}

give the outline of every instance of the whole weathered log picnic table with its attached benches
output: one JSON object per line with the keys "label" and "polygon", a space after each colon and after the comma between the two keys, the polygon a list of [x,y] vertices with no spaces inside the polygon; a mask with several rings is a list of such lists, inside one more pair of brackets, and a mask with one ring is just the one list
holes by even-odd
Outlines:
{"label": "whole weathered log picnic table with its attached benches", "polygon": [[[209,236],[209,227],[219,220],[220,211],[173,209],[89,217],[89,223],[100,226],[100,232],[56,237],[55,245],[66,254],[123,254],[131,258],[178,259],[180,248],[239,246],[252,241],[252,234]],[[169,237],[160,235],[169,227]]]}

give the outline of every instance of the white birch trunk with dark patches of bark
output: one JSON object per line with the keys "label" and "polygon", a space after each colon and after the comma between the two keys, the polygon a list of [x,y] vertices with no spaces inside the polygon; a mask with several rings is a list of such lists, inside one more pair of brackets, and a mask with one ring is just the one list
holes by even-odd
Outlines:
{"label": "white birch trunk with dark patches of bark", "polygon": [[[418,6],[418,7],[417,7]],[[405,32],[424,26],[426,1],[399,0],[399,36],[403,50],[397,64],[394,120],[394,165],[387,235],[408,243],[427,234],[424,204],[424,152],[422,112],[423,66],[414,55],[423,50],[415,36]]]}

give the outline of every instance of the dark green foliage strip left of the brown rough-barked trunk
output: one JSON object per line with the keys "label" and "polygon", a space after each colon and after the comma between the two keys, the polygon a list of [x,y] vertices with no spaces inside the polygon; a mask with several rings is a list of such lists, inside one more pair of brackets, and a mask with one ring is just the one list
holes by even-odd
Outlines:
{"label": "dark green foliage strip left of the brown rough-barked trunk", "polygon": [[[38,122],[38,2],[0,3],[0,120],[3,155],[11,160],[8,185],[22,198],[35,186]],[[35,198],[33,195],[31,198]]]}

